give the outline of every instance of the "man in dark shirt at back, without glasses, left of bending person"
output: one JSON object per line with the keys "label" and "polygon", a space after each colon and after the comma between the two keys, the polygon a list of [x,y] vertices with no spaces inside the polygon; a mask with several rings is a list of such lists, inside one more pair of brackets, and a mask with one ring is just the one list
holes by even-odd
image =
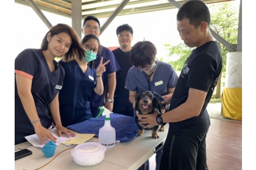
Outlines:
{"label": "man in dark shirt at back, without glasses, left of bending person", "polygon": [[116,60],[121,68],[116,72],[116,90],[114,95],[113,112],[133,117],[132,103],[129,101],[129,90],[124,88],[126,75],[132,63],[130,63],[130,50],[132,49],[133,29],[128,24],[117,27],[116,36],[118,37],[119,48],[113,50]]}

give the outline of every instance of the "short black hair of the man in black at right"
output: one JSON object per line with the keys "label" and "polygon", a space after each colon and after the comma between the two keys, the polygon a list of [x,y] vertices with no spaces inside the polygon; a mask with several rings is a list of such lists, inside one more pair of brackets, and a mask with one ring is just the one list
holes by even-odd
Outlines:
{"label": "short black hair of the man in black at right", "polygon": [[209,27],[211,21],[210,11],[207,5],[199,0],[187,1],[180,7],[177,13],[177,21],[182,21],[184,18],[187,18],[195,28],[202,21],[207,22],[207,27]]}

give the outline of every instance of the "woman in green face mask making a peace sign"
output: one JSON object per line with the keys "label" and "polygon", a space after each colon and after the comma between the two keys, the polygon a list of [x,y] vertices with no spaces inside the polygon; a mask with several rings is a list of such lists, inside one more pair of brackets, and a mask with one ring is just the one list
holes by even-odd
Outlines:
{"label": "woman in green face mask making a peace sign", "polygon": [[94,60],[99,52],[99,39],[93,34],[85,35],[82,39],[82,47],[85,49],[85,57],[76,56],[72,60],[61,60],[59,64],[65,69],[64,84],[59,94],[60,118],[63,126],[80,123],[92,118],[90,110],[90,98],[93,91],[103,94],[102,73],[105,65],[95,69]]}

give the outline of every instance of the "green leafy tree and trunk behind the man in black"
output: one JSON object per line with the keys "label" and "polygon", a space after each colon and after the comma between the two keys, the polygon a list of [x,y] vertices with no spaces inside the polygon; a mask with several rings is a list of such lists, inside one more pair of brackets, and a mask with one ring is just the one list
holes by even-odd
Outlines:
{"label": "green leafy tree and trunk behind the man in black", "polygon": [[[238,34],[238,18],[239,9],[231,2],[219,2],[215,4],[208,5],[211,15],[210,29],[216,32],[219,36],[226,39],[230,44],[237,43]],[[226,60],[227,53],[229,52],[226,47],[224,47],[220,42],[219,49],[222,54],[222,73],[219,78],[218,84],[216,85],[216,92],[213,95],[215,98],[221,97],[221,87],[224,87],[224,83],[221,83],[221,78],[226,76]],[[165,44],[165,47],[169,49],[169,56],[179,55],[179,59],[176,61],[169,61],[168,63],[174,67],[176,72],[181,72],[183,64],[187,60],[191,53],[191,48],[185,46],[181,43],[177,46],[171,46],[171,44]],[[221,86],[222,84],[222,86]]]}

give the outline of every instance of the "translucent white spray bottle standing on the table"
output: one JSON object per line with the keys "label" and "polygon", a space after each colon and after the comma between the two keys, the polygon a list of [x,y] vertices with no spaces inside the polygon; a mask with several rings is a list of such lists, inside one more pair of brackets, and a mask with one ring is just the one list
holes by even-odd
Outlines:
{"label": "translucent white spray bottle standing on the table", "polygon": [[101,114],[105,114],[105,124],[101,129],[99,129],[99,143],[101,143],[105,148],[110,149],[115,146],[116,141],[116,130],[110,124],[110,110],[106,109],[105,107],[99,107]]}

